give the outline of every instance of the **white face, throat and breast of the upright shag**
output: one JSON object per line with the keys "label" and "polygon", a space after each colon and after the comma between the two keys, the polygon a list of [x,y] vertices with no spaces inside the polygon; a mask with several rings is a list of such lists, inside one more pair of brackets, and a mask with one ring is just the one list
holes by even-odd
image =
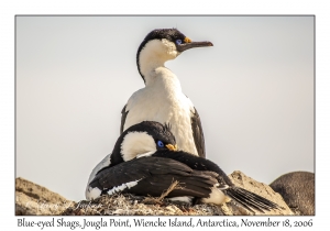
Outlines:
{"label": "white face, throat and breast of the upright shag", "polygon": [[175,44],[166,40],[151,41],[140,52],[140,72],[144,76],[145,87],[129,99],[125,107],[129,113],[123,130],[142,121],[169,123],[178,148],[197,155],[190,129],[194,105],[183,94],[176,75],[164,66],[166,61],[178,55]]}

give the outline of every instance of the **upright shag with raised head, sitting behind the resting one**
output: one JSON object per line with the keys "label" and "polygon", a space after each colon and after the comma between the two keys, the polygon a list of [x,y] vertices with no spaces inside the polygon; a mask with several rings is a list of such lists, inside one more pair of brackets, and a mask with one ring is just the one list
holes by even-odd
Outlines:
{"label": "upright shag with raised head, sitting behind the resting one", "polygon": [[205,157],[199,114],[183,94],[177,76],[165,67],[165,62],[187,50],[212,45],[211,42],[193,42],[177,29],[150,32],[136,54],[138,69],[145,87],[135,91],[124,106],[120,132],[142,121],[169,123],[182,150]]}

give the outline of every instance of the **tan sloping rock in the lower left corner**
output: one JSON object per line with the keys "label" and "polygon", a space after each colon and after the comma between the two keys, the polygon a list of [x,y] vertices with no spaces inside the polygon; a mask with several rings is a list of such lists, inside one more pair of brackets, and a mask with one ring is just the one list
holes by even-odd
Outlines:
{"label": "tan sloping rock in the lower left corner", "polygon": [[59,215],[74,201],[21,177],[15,179],[15,215]]}

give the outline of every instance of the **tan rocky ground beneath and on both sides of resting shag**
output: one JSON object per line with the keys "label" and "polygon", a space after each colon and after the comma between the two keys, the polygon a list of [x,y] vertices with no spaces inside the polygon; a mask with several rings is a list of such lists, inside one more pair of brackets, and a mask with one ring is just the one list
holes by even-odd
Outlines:
{"label": "tan rocky ground beneath and on both sides of resting shag", "polygon": [[213,205],[177,205],[165,199],[136,197],[133,195],[103,196],[92,201],[70,201],[45,187],[23,178],[15,182],[15,213],[20,215],[62,215],[62,216],[245,216],[245,215],[301,215],[292,211],[270,186],[258,183],[241,172],[229,177],[237,186],[253,191],[274,202],[280,208],[272,211],[251,212],[233,200],[228,199],[222,206]]}

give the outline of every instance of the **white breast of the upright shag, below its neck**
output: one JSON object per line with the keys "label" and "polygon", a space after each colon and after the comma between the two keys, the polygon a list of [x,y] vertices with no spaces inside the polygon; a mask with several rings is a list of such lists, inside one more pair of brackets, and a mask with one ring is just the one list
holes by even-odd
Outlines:
{"label": "white breast of the upright shag, below its neck", "polygon": [[194,106],[183,92],[177,77],[166,67],[158,67],[145,88],[128,101],[124,130],[142,121],[170,123],[179,150],[198,155],[191,130]]}

